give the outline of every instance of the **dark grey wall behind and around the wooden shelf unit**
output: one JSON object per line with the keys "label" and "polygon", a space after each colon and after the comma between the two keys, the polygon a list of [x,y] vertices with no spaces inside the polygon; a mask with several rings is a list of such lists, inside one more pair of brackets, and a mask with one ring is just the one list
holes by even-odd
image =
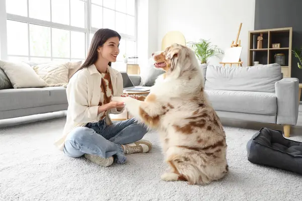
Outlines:
{"label": "dark grey wall behind and around the wooden shelf unit", "polygon": [[[255,30],[292,27],[292,49],[302,47],[302,0],[256,0]],[[291,77],[302,83],[302,69],[291,55]]]}

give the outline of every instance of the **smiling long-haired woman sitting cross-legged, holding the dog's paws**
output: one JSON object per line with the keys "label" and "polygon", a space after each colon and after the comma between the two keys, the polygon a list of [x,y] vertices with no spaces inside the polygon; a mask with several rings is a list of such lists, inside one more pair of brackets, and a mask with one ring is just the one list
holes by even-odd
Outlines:
{"label": "smiling long-haired woman sitting cross-legged, holding the dog's paws", "polygon": [[[67,85],[67,119],[63,136],[55,142],[70,157],[84,155],[101,166],[116,161],[123,164],[124,154],[148,152],[152,144],[141,140],[147,133],[134,119],[112,124],[109,114],[120,114],[124,104],[112,102],[123,96],[121,73],[111,68],[119,54],[121,36],[110,29],[98,30],[88,56]],[[133,96],[133,98],[136,98]]]}

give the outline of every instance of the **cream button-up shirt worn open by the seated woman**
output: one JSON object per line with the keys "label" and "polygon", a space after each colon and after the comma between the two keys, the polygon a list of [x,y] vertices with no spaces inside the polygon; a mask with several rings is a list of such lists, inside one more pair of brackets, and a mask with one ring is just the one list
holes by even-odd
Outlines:
{"label": "cream button-up shirt worn open by the seated woman", "polygon": [[[108,66],[110,73],[113,96],[123,94],[123,78],[119,71]],[[77,127],[85,126],[89,122],[98,122],[104,113],[98,115],[99,102],[103,102],[104,94],[101,91],[102,75],[93,64],[87,68],[77,71],[69,80],[66,94],[68,101],[66,124],[61,138],[55,145],[62,151],[65,138],[68,133]],[[124,110],[124,109],[123,109]],[[120,114],[116,108],[111,109],[109,114]],[[106,116],[106,123],[112,124],[109,114]]]}

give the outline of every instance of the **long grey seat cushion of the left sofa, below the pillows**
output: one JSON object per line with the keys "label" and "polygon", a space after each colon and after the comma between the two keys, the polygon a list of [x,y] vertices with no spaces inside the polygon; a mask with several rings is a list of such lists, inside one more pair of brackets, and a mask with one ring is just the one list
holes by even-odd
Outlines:
{"label": "long grey seat cushion of the left sofa, below the pillows", "polygon": [[0,90],[0,111],[66,104],[66,88],[11,88]]}

